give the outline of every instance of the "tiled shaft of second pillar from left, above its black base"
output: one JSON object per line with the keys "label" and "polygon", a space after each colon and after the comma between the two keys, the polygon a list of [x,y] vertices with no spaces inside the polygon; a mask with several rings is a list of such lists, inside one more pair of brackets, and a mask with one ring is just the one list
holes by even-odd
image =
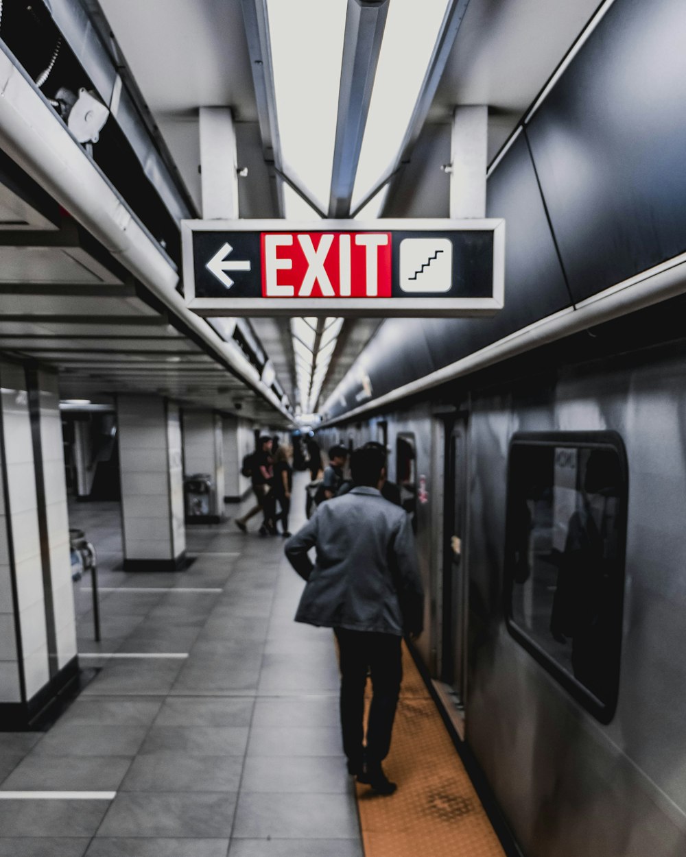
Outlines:
{"label": "tiled shaft of second pillar from left, above its black base", "polygon": [[[122,479],[124,555],[127,560],[174,560],[178,533],[172,538],[168,442],[171,428],[164,399],[120,396],[117,399],[119,462]],[[178,496],[175,497],[178,511]],[[182,548],[183,549],[183,548]]]}

